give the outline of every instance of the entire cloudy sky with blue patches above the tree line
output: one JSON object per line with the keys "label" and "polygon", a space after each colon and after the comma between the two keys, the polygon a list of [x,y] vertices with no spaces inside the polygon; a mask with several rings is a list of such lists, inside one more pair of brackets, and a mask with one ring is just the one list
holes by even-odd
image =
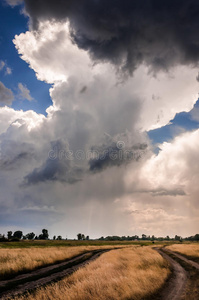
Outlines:
{"label": "entire cloudy sky with blue patches above the tree line", "polygon": [[198,15],[1,1],[0,233],[198,233]]}

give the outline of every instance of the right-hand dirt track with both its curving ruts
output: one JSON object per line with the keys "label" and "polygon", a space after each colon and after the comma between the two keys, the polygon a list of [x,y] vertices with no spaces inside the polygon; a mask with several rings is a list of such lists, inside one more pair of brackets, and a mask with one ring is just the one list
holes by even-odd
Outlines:
{"label": "right-hand dirt track with both its curving ruts", "polygon": [[[166,248],[154,248],[158,253],[160,253],[171,265],[172,267],[172,276],[169,280],[166,287],[160,292],[161,300],[183,300],[187,299],[185,297],[185,291],[189,284],[190,274],[185,270],[185,268],[181,265],[182,262],[188,264],[189,267],[195,268],[199,270],[199,264],[185,258],[184,256],[175,253]],[[172,255],[170,257],[169,255]],[[177,262],[174,258],[178,258]],[[198,299],[198,298],[190,298],[190,299]]]}

